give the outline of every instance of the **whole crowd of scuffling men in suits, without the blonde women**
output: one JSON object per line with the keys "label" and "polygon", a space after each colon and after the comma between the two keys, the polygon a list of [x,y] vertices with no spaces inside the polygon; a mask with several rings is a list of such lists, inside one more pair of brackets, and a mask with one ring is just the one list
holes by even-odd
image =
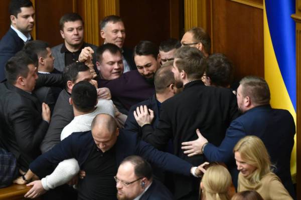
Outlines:
{"label": "whole crowd of scuffling men in suits, without the blonde women", "polygon": [[225,163],[237,186],[233,147],[256,135],[295,196],[291,114],[270,107],[262,78],[231,85],[232,63],[210,55],[202,28],[130,50],[122,19],[107,16],[97,47],[71,13],[59,22],[64,43],[51,48],[32,41],[30,0],[11,0],[10,15],[0,41],[0,144],[13,164],[0,185],[16,178],[33,186],[25,197],[43,199],[198,199],[201,164]]}

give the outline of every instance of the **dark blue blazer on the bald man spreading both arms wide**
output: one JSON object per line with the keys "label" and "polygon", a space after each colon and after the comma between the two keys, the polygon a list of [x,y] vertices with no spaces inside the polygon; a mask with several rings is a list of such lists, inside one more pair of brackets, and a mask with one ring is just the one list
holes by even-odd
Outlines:
{"label": "dark blue blazer on the bald man spreading both arms wide", "polygon": [[[30,164],[30,169],[39,177],[44,177],[47,175],[45,166],[53,166],[69,158],[75,158],[82,167],[94,145],[96,144],[91,131],[73,133],[34,160]],[[152,145],[139,140],[136,134],[120,131],[115,146],[117,166],[127,156],[139,155],[152,165],[190,176],[192,164],[170,153],[155,149]]]}

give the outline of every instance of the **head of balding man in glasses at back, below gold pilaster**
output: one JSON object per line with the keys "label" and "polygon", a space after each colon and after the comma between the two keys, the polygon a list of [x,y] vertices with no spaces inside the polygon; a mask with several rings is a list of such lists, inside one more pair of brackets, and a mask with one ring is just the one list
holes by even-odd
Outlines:
{"label": "head of balding man in glasses at back, below gold pilaster", "polygon": [[211,39],[204,29],[194,27],[184,34],[181,40],[181,45],[182,47],[195,47],[200,50],[205,57],[208,57],[210,53]]}

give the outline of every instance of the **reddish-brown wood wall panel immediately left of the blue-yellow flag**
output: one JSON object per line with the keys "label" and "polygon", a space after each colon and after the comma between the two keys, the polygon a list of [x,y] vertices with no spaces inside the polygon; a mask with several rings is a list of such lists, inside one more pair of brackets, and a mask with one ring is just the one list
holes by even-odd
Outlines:
{"label": "reddish-brown wood wall panel immediately left of the blue-yellow flag", "polygon": [[213,52],[235,65],[235,79],[264,77],[263,10],[240,3],[212,1]]}

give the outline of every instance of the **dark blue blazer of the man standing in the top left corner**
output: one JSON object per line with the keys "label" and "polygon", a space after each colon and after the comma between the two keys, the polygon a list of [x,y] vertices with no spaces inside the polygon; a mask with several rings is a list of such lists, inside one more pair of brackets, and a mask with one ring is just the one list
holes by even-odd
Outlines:
{"label": "dark blue blazer of the man standing in the top left corner", "polygon": [[24,41],[10,28],[0,41],[0,82],[5,79],[5,65],[7,61],[22,50]]}

